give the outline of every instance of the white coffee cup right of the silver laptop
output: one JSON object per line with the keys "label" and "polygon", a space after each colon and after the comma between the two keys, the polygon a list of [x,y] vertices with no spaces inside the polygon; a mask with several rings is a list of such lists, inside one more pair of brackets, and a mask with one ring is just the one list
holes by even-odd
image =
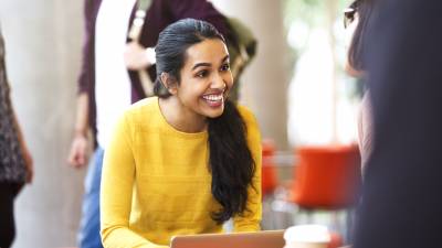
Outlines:
{"label": "white coffee cup right of the silver laptop", "polygon": [[330,235],[323,225],[297,225],[285,230],[284,239],[284,248],[327,248]]}

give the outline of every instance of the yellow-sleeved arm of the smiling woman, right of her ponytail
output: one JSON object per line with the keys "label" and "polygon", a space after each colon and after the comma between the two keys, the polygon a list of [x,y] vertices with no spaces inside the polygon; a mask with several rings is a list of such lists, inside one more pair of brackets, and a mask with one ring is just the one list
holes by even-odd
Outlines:
{"label": "yellow-sleeved arm of the smiling woman, right of her ponytail", "polygon": [[249,187],[249,198],[245,213],[242,216],[233,218],[235,231],[256,231],[260,230],[262,216],[262,194],[261,194],[261,163],[262,145],[261,133],[253,114],[244,107],[239,107],[242,118],[248,128],[246,139],[249,149],[252,152],[255,162],[255,175],[253,176],[253,186]]}

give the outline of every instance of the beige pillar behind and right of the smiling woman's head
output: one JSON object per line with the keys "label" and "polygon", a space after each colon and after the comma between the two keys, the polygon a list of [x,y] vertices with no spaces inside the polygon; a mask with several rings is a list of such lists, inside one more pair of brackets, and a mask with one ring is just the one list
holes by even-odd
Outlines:
{"label": "beige pillar behind and right of the smiling woman's head", "polygon": [[241,101],[252,108],[263,138],[287,149],[287,45],[282,0],[212,0],[224,14],[242,20],[257,37],[257,55],[241,78]]}

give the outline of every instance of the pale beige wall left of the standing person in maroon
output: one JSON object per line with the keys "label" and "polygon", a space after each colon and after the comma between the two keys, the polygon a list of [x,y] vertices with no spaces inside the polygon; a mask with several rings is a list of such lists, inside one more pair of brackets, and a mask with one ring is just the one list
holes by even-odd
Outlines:
{"label": "pale beige wall left of the standing person in maroon", "polygon": [[1,0],[12,99],[35,164],[15,201],[14,248],[75,245],[84,172],[66,154],[75,110],[83,1]]}

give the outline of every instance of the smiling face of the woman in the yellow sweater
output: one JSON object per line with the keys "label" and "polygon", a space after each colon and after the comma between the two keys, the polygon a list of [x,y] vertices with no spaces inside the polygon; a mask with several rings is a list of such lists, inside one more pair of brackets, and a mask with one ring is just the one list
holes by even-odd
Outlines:
{"label": "smiling face of the woman in the yellow sweater", "polygon": [[233,85],[225,44],[219,39],[190,46],[185,55],[176,96],[187,114],[215,118]]}

